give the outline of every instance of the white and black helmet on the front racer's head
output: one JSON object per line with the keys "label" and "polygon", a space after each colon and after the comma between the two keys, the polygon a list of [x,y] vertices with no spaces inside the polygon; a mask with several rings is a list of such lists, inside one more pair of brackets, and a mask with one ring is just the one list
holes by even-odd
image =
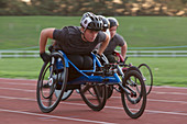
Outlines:
{"label": "white and black helmet on the front racer's head", "polygon": [[102,30],[102,20],[95,15],[91,12],[87,12],[82,15],[80,20],[80,25],[86,30],[95,30],[95,31],[101,31]]}

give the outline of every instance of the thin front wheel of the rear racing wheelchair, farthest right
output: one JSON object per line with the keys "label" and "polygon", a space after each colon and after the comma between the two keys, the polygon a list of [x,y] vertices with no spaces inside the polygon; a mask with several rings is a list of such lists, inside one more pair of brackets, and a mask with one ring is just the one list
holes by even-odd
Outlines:
{"label": "thin front wheel of the rear racing wheelchair, farthest right", "polygon": [[146,87],[146,94],[150,94],[152,87],[153,87],[153,74],[151,68],[146,64],[141,64],[139,69],[142,74],[145,87]]}

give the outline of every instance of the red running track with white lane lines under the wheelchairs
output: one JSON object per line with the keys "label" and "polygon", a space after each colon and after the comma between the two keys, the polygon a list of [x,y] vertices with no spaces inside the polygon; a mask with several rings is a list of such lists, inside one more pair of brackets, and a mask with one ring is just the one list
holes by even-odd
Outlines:
{"label": "red running track with white lane lines under the wheelchairs", "polygon": [[186,124],[187,88],[154,87],[146,110],[138,120],[130,119],[114,92],[103,110],[95,112],[78,93],[42,113],[36,102],[36,80],[0,78],[0,124]]}

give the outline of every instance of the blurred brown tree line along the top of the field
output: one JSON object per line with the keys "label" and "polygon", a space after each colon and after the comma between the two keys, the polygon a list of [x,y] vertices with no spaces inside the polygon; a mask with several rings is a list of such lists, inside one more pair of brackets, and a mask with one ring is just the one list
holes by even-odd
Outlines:
{"label": "blurred brown tree line along the top of the field", "polygon": [[182,15],[187,0],[0,0],[0,15]]}

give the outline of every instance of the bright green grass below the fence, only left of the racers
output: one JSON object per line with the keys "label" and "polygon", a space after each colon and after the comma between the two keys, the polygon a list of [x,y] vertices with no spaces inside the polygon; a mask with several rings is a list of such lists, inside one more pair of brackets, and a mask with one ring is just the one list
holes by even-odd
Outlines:
{"label": "bright green grass below the fence, only left of the racers", "polygon": [[2,58],[0,77],[37,79],[42,64],[40,58]]}

